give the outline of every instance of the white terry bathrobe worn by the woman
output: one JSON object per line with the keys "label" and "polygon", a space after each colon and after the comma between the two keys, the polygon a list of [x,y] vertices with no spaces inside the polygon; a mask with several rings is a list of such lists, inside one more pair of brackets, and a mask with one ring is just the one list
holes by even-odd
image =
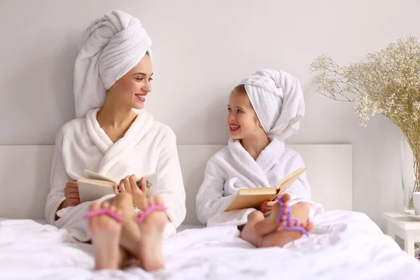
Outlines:
{"label": "white terry bathrobe worn by the woman", "polygon": [[[186,216],[186,194],[174,132],[155,122],[149,113],[140,111],[124,137],[113,144],[97,122],[98,111],[92,109],[86,118],[71,120],[57,134],[46,220],[57,228],[65,228],[79,241],[88,241],[87,221],[83,216],[91,202],[60,210],[60,218],[55,221],[57,209],[65,200],[66,183],[83,178],[83,169],[108,176],[118,183],[128,175],[141,177],[156,172],[158,195],[165,200],[171,220],[165,232],[174,233]],[[102,197],[102,201],[112,196]]]}

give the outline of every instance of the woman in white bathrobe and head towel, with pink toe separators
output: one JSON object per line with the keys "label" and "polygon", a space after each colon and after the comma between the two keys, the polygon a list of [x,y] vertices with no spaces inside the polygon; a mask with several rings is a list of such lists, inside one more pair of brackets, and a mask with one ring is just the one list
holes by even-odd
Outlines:
{"label": "woman in white bathrobe and head towel, with pink toe separators", "polygon": [[[175,134],[141,111],[151,92],[150,47],[139,20],[127,13],[113,10],[94,20],[74,68],[78,118],[57,134],[45,218],[92,241],[96,269],[121,268],[130,257],[146,270],[164,267],[162,236],[186,216]],[[116,195],[80,204],[76,181],[84,169],[120,182]],[[158,196],[146,199],[140,178],[153,172]]]}

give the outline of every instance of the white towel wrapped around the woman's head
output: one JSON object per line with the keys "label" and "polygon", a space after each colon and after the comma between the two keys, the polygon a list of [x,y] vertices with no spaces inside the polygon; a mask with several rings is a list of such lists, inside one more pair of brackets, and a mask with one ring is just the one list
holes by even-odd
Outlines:
{"label": "white towel wrapped around the woman's head", "polygon": [[120,10],[94,20],[83,34],[74,65],[74,101],[76,116],[104,104],[106,90],[151,56],[151,38],[139,19]]}

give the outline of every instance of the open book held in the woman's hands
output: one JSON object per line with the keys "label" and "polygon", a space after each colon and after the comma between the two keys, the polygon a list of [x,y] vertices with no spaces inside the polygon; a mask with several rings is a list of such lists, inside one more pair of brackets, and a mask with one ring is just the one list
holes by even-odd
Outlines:
{"label": "open book held in the woman's hands", "polygon": [[[155,195],[158,190],[158,174],[148,174],[144,176],[146,180],[146,197]],[[118,183],[113,180],[99,175],[95,172],[85,169],[85,178],[77,181],[80,203],[98,200],[104,195],[113,194],[113,186]],[[137,186],[140,186],[140,179],[137,181]]]}

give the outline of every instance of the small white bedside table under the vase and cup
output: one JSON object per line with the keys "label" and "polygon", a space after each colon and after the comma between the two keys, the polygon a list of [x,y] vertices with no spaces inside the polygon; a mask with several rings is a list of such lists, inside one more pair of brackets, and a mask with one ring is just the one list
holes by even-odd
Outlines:
{"label": "small white bedside table under the vase and cup", "polygon": [[385,212],[384,218],[386,218],[386,234],[393,239],[395,235],[404,239],[404,251],[414,257],[414,242],[420,241],[420,221],[395,212]]}

